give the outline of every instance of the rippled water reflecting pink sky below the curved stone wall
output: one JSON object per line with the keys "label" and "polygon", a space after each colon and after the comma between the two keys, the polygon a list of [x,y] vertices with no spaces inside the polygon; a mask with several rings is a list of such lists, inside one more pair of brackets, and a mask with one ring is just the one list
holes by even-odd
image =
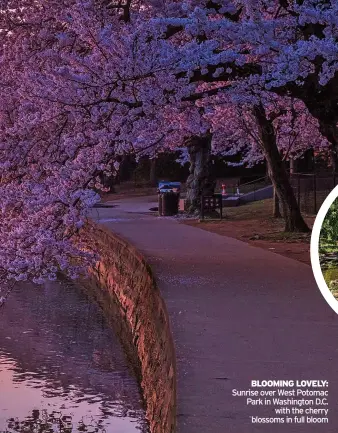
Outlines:
{"label": "rippled water reflecting pink sky below the curved stone wall", "polygon": [[0,432],[147,432],[134,370],[100,308],[62,282],[0,309]]}

